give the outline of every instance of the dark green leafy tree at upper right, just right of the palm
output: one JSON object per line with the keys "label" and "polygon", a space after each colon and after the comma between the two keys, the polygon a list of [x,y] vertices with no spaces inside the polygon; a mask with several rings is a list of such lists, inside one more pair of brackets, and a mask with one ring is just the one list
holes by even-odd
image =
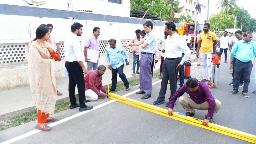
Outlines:
{"label": "dark green leafy tree at upper right, just right of the palm", "polygon": [[248,11],[245,10],[243,7],[235,7],[233,14],[237,17],[238,28],[241,28],[242,25],[243,32],[250,31],[251,16],[250,14],[248,14]]}

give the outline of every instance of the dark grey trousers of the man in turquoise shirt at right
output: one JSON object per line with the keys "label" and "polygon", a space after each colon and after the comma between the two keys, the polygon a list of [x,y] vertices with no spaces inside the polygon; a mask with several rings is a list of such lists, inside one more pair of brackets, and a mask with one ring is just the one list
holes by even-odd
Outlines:
{"label": "dark grey trousers of the man in turquoise shirt at right", "polygon": [[241,73],[243,72],[243,79],[244,79],[244,87],[242,92],[248,92],[248,85],[251,81],[251,72],[252,72],[252,61],[242,62],[240,60],[236,60],[235,64],[235,75],[233,80],[233,91],[238,92],[239,88],[239,80],[241,78]]}

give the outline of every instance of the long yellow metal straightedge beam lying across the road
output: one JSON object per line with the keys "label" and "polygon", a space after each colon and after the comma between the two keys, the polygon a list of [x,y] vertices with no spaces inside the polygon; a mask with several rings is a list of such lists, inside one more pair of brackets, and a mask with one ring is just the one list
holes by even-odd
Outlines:
{"label": "long yellow metal straightedge beam lying across the road", "polygon": [[174,120],[182,121],[182,122],[185,122],[185,123],[188,123],[188,124],[191,124],[191,125],[195,125],[195,126],[198,126],[198,127],[201,127],[201,128],[205,128],[205,129],[212,130],[212,131],[215,131],[215,132],[218,132],[218,133],[222,133],[222,134],[225,134],[227,136],[234,137],[234,138],[237,138],[237,139],[241,139],[241,140],[244,140],[244,141],[247,141],[247,142],[256,143],[256,136],[255,135],[245,133],[245,132],[242,132],[242,131],[238,131],[238,130],[235,130],[235,129],[231,129],[231,128],[228,128],[228,127],[220,126],[220,125],[213,124],[213,123],[208,123],[208,126],[204,126],[204,125],[202,125],[203,120],[193,118],[193,117],[190,117],[190,116],[180,115],[180,114],[177,114],[176,112],[174,112],[173,115],[170,116],[170,115],[168,115],[168,110],[166,110],[166,109],[159,108],[159,107],[149,105],[149,104],[146,104],[146,103],[142,103],[140,101],[136,101],[136,100],[133,100],[131,98],[126,98],[126,97],[123,97],[123,96],[120,96],[120,95],[117,95],[117,94],[114,94],[114,93],[110,93],[109,92],[109,84],[108,84],[108,96],[112,100],[122,102],[122,103],[131,105],[131,106],[134,106],[134,107],[137,107],[137,108],[141,108],[141,109],[144,109],[144,110],[147,110],[147,111],[150,111],[150,112],[154,112],[154,113],[166,116],[168,118],[172,118]]}

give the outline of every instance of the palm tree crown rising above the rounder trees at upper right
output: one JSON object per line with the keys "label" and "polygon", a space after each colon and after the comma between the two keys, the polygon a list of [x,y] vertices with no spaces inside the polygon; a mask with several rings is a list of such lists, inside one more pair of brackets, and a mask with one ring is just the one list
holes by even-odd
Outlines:
{"label": "palm tree crown rising above the rounder trees at upper right", "polygon": [[234,7],[237,6],[236,4],[237,0],[220,0],[217,4],[218,9],[221,7],[221,11],[225,12],[226,14],[229,14],[229,12],[233,12],[234,11]]}

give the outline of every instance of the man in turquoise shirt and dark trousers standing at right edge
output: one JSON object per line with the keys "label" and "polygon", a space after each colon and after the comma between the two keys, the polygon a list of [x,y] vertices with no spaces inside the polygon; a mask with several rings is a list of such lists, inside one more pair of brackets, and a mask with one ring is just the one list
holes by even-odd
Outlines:
{"label": "man in turquoise shirt and dark trousers standing at right edge", "polygon": [[236,63],[234,65],[236,71],[234,73],[233,90],[229,94],[238,93],[239,80],[243,72],[244,87],[242,94],[244,97],[249,97],[247,92],[252,72],[252,59],[256,55],[256,47],[251,42],[253,38],[252,32],[245,32],[243,37],[243,40],[236,42],[231,50],[231,54],[236,57]]}

